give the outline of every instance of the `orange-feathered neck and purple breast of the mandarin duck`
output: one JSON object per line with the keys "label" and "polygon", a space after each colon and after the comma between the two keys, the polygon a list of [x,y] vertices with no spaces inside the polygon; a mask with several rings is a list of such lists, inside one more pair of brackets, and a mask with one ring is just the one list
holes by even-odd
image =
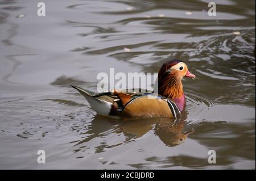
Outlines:
{"label": "orange-feathered neck and purple breast of the mandarin duck", "polygon": [[171,99],[179,110],[182,111],[185,107],[185,96],[181,79],[167,76],[163,80],[159,80],[158,83],[159,94]]}

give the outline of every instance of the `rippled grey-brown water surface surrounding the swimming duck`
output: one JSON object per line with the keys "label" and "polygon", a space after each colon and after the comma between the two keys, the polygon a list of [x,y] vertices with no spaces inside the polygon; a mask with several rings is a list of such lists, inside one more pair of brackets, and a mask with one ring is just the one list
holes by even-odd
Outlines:
{"label": "rippled grey-brown water surface surrounding the swimming duck", "polygon": [[[255,1],[44,2],[0,1],[1,169],[255,169]],[[197,76],[175,123],[97,116],[69,87],[168,57]]]}

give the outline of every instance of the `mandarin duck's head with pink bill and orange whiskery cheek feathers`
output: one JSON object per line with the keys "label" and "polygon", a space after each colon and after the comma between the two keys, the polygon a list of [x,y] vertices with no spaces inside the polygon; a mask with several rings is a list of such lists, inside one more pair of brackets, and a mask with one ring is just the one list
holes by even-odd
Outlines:
{"label": "mandarin duck's head with pink bill and orange whiskery cheek feathers", "polygon": [[180,99],[183,96],[183,86],[181,79],[190,77],[195,79],[187,65],[180,60],[174,59],[165,62],[158,73],[159,94],[171,99]]}

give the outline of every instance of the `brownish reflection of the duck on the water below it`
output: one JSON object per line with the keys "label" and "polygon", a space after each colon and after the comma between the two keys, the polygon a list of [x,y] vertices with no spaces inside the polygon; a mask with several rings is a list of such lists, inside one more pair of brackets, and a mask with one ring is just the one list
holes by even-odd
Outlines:
{"label": "brownish reflection of the duck on the water below it", "polygon": [[[76,142],[76,145],[85,144],[93,138],[107,136],[110,133],[123,134],[126,140],[142,137],[147,132],[153,130],[154,134],[167,146],[176,146],[182,144],[187,136],[194,132],[193,128],[188,128],[187,111],[183,111],[182,116],[175,119],[151,118],[135,120],[114,120],[110,117],[96,116],[91,124],[86,127],[85,138]],[[75,145],[75,146],[76,146]],[[109,146],[110,147],[110,146]],[[106,145],[105,148],[108,148]]]}

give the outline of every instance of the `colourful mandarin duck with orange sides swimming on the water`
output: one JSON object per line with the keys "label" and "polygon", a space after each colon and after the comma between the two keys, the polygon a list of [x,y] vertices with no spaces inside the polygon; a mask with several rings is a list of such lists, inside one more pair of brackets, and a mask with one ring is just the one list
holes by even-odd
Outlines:
{"label": "colourful mandarin duck with orange sides swimming on the water", "polygon": [[93,92],[73,86],[101,116],[117,118],[177,117],[185,108],[183,77],[196,78],[184,61],[171,59],[160,67],[158,72],[158,94],[152,92]]}

